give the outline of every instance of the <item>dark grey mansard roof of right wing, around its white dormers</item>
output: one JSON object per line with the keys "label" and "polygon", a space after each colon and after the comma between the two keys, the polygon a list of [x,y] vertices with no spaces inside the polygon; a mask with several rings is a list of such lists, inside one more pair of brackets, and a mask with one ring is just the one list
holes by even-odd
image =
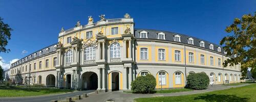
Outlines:
{"label": "dark grey mansard roof of right wing, around its white dormers", "polygon": [[[224,54],[224,50],[223,50],[222,46],[214,44],[214,43],[211,43],[209,41],[198,39],[198,38],[195,38],[195,37],[190,37],[190,36],[187,36],[187,35],[183,35],[183,34],[179,34],[179,33],[173,33],[173,32],[168,32],[168,31],[159,31],[159,30],[134,29],[134,31],[135,31],[135,35],[134,36],[137,39],[155,39],[155,40],[159,40],[158,39],[158,33],[160,33],[160,32],[163,32],[165,34],[165,41],[177,42],[177,41],[174,41],[174,36],[175,35],[179,35],[180,36],[180,41],[181,41],[180,43],[188,44],[188,39],[189,38],[193,38],[194,39],[194,46],[201,47],[200,46],[200,42],[204,41],[204,48],[212,50],[212,49],[209,48],[209,45],[213,44],[215,52],[218,52],[218,47],[221,47],[221,52],[220,53]],[[146,31],[147,32],[147,38],[140,38],[140,32],[142,32],[142,31]],[[192,44],[189,44],[189,45],[192,45]]]}

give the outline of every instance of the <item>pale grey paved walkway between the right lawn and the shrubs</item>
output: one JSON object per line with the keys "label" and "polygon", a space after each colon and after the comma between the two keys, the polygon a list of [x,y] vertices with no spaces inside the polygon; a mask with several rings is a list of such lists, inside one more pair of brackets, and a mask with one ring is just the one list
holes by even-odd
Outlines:
{"label": "pale grey paved walkway between the right lawn and the shrubs", "polygon": [[[195,91],[187,91],[187,92],[177,92],[177,93],[155,93],[155,94],[132,94],[132,93],[124,93],[124,92],[106,92],[106,93],[93,93],[90,94],[89,97],[83,98],[81,100],[76,100],[77,102],[87,101],[87,102],[103,102],[107,101],[109,99],[117,101],[124,101],[124,102],[132,102],[135,98],[141,98],[141,97],[157,97],[157,96],[180,96],[180,95],[189,95],[189,94],[198,94],[198,93],[205,93],[205,92],[211,92],[216,90],[224,90],[229,88],[235,88],[235,87],[241,87],[246,86],[249,84],[242,84],[237,86],[225,86],[225,85],[216,85],[216,86],[210,86],[206,90],[195,90]],[[109,100],[110,101],[110,100]]]}

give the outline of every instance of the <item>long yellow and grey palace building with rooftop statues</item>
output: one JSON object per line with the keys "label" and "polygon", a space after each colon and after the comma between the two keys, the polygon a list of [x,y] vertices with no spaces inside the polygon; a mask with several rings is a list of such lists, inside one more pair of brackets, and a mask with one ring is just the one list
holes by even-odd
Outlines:
{"label": "long yellow and grey palace building with rooftop statues", "polygon": [[156,89],[186,85],[188,74],[204,72],[209,84],[240,82],[240,65],[223,67],[231,57],[220,45],[168,31],[135,29],[134,19],[77,22],[61,29],[58,43],[12,63],[15,84],[43,84],[77,90],[131,90],[140,75],[152,74]]}

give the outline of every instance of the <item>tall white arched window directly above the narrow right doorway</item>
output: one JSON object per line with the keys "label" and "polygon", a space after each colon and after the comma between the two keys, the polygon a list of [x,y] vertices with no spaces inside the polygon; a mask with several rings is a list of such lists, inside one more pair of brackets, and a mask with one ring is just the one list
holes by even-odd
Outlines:
{"label": "tall white arched window directly above the narrow right doorway", "polygon": [[110,45],[110,58],[120,58],[120,45],[119,43],[112,43]]}

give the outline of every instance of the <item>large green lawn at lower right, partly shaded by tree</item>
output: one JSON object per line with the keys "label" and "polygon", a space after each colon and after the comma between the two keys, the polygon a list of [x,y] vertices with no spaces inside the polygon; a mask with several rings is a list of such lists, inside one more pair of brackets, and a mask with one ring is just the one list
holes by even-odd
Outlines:
{"label": "large green lawn at lower right, partly shaded by tree", "polygon": [[194,95],[170,96],[170,97],[152,97],[152,98],[137,98],[137,102],[141,101],[256,101],[256,84],[230,88]]}

